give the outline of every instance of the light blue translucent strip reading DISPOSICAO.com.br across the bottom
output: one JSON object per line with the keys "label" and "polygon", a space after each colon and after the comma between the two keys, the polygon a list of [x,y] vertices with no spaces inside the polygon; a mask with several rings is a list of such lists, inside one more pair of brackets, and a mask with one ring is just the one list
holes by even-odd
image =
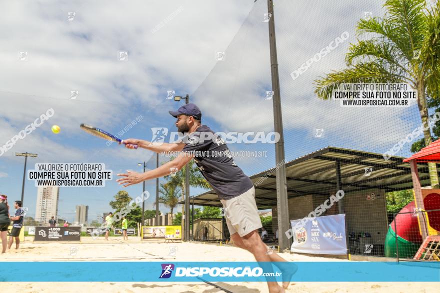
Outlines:
{"label": "light blue translucent strip reading DISPOSICAO.com.br across the bottom", "polygon": [[[38,231],[38,230],[37,230]],[[439,282],[432,262],[7,262],[2,282]],[[270,268],[267,268],[269,265]],[[25,266],[26,270],[23,270]],[[262,266],[266,267],[263,268]],[[123,272],[123,274],[120,274]],[[279,276],[276,276],[278,274]]]}

